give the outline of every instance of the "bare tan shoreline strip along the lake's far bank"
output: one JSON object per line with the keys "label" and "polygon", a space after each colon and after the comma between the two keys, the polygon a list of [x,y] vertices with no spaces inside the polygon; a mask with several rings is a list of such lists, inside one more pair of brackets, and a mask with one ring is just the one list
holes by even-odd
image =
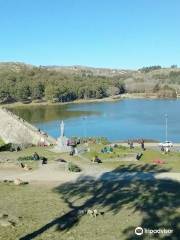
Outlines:
{"label": "bare tan shoreline strip along the lake's far bank", "polygon": [[100,98],[100,99],[77,99],[69,102],[48,102],[48,101],[32,101],[29,103],[23,102],[13,102],[13,103],[0,103],[0,107],[29,107],[29,106],[55,106],[55,105],[68,105],[68,104],[86,104],[86,103],[102,103],[102,102],[116,102],[124,99],[178,99],[178,98],[158,98],[155,94],[145,94],[145,93],[125,93],[119,94],[112,97]]}

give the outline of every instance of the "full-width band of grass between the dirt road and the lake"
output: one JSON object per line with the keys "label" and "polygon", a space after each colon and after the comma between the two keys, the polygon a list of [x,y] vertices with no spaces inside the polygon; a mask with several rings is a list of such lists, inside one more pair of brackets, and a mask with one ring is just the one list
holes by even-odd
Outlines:
{"label": "full-width band of grass between the dirt road and the lake", "polygon": [[[103,144],[90,144],[90,152],[83,154],[87,160],[83,160],[84,163],[90,162],[92,158],[97,155],[103,163],[102,167],[114,169],[124,165],[154,165],[153,160],[161,159],[165,161],[165,164],[159,165],[159,168],[180,172],[180,153],[171,152],[169,154],[163,154],[160,151],[146,150],[143,152],[143,156],[139,161],[135,161],[135,156],[138,152],[141,152],[140,148],[129,149],[127,147],[114,148],[113,153],[101,153],[101,149],[104,148]],[[0,152],[0,157],[5,157],[12,161],[16,161],[19,157],[31,156],[34,152],[37,152],[40,156],[48,158],[48,161],[53,161],[57,158],[64,158],[67,161],[78,162],[79,158],[76,156],[69,156],[67,153],[55,153],[50,151],[47,147],[31,147],[19,152]],[[134,159],[133,161],[125,161],[125,159]],[[82,161],[82,160],[79,160]],[[33,169],[38,166],[38,161],[25,161],[24,163]]]}

